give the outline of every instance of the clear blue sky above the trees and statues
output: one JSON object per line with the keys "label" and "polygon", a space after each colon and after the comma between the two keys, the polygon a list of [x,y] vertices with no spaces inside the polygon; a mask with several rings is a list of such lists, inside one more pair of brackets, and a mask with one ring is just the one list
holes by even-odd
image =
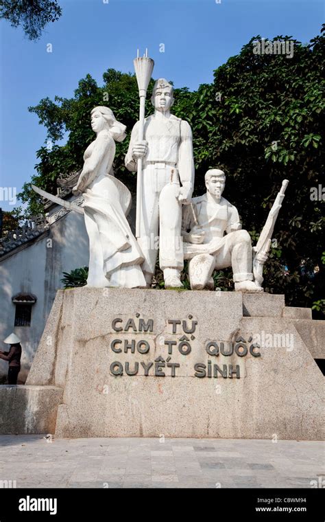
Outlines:
{"label": "clear blue sky above the trees and statues", "polygon": [[[45,142],[28,106],[41,98],[73,96],[90,73],[101,85],[108,68],[133,72],[139,47],[155,60],[154,78],[194,90],[213,81],[213,70],[239,54],[252,36],[279,34],[308,42],[324,16],[318,0],[60,0],[62,16],[36,42],[0,21],[0,185],[20,192],[34,173]],[[47,52],[51,43],[52,52]],[[160,52],[160,44],[165,52]],[[248,93],[248,96],[250,93]],[[130,132],[130,129],[128,129]],[[3,209],[13,205],[1,202]]]}

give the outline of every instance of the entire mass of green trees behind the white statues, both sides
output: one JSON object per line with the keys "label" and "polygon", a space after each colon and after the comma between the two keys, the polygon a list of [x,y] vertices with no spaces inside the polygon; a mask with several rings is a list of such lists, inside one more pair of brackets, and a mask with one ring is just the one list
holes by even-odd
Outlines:
{"label": "entire mass of green trees behind the white statues, both sides", "polygon": [[[311,306],[324,297],[324,202],[311,198],[311,189],[321,183],[324,172],[324,36],[316,36],[308,45],[293,40],[292,58],[254,54],[253,42],[258,39],[252,38],[239,55],[221,65],[212,84],[202,84],[195,92],[176,89],[173,113],[193,129],[194,195],[204,192],[208,168],[224,169],[224,196],[238,207],[254,245],[282,180],[289,179],[274,230],[276,241],[265,265],[265,289],[285,293],[287,304]],[[292,40],[274,38],[288,39]],[[128,139],[117,144],[115,171],[134,189],[135,176],[125,170],[124,155],[138,119],[138,87],[134,75],[113,69],[104,73],[103,87],[87,75],[73,98],[57,97],[54,102],[45,98],[29,109],[45,124],[54,143],[51,151],[45,147],[38,151],[40,163],[32,180],[36,185],[51,190],[58,174],[82,167],[82,154],[93,139],[89,119],[96,105],[110,106],[128,126]],[[146,114],[152,110],[148,97]],[[67,144],[56,145],[66,132]],[[29,201],[29,211],[39,212],[28,183],[21,198]],[[232,288],[228,271],[218,277],[216,286]]]}

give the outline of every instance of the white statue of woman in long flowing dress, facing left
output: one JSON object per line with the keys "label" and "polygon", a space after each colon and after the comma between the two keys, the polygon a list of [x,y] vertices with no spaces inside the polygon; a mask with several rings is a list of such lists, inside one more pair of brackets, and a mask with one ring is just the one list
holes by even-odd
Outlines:
{"label": "white statue of woman in long flowing dress, facing left", "polygon": [[140,264],[143,253],[125,215],[131,204],[128,188],[112,174],[115,141],[125,138],[125,125],[108,107],[91,111],[96,139],[84,152],[84,167],[73,188],[84,196],[84,220],[89,236],[87,286],[145,286]]}

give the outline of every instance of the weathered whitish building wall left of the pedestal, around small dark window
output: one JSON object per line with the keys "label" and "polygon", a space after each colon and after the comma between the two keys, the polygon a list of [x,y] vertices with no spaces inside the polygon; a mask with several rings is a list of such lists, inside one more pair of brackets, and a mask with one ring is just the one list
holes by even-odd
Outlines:
{"label": "weathered whitish building wall left of the pedestal, around small dark window", "polygon": [[[0,350],[8,350],[2,341],[11,332],[19,336],[23,348],[21,382],[27,378],[56,291],[62,288],[62,271],[88,265],[88,236],[83,216],[69,212],[51,225],[44,238],[28,245],[5,259],[0,258]],[[37,297],[31,326],[14,328],[12,297],[27,292]],[[8,363],[0,359],[0,382],[7,373]]]}

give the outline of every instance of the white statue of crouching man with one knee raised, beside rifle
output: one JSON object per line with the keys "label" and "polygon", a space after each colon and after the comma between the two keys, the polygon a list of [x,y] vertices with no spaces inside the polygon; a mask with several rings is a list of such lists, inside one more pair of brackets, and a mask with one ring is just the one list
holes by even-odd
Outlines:
{"label": "white statue of crouching man with one knee raised, beside rifle", "polygon": [[[213,290],[213,271],[232,266],[235,291],[263,291],[254,282],[250,234],[241,230],[237,208],[222,197],[224,172],[208,170],[205,182],[206,194],[193,198],[183,212],[184,258],[190,260],[191,288]],[[260,255],[263,262],[266,258]]]}

